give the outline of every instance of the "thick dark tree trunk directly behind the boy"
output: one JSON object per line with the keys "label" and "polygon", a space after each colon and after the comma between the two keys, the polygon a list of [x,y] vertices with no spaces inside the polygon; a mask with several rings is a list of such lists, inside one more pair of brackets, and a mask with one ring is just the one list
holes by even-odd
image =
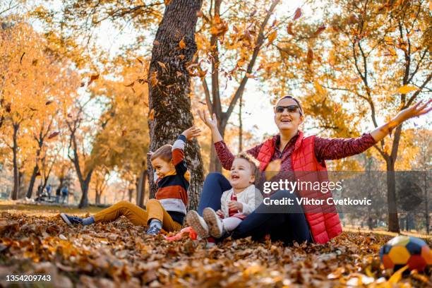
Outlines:
{"label": "thick dark tree trunk directly behind the boy", "polygon": [[[202,0],[172,0],[157,29],[148,72],[152,151],[164,144],[172,144],[182,131],[193,126],[189,97],[191,76],[186,68],[196,52],[195,29],[201,4]],[[189,208],[196,209],[203,186],[203,164],[197,140],[186,145],[185,156],[191,171]],[[152,181],[150,162],[148,176],[150,198],[154,198],[157,187]]]}

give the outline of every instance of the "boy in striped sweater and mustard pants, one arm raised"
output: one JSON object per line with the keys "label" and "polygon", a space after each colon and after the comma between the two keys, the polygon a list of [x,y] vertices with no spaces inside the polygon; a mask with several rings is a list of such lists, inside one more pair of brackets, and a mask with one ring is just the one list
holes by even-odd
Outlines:
{"label": "boy in striped sweater and mustard pants, one arm raised", "polygon": [[124,215],[133,224],[148,225],[148,235],[157,235],[161,229],[173,232],[181,229],[188,204],[188,187],[191,174],[184,161],[186,140],[200,135],[200,129],[186,129],[174,145],[163,145],[151,154],[150,161],[155,169],[157,183],[156,198],[148,200],[147,210],[121,201],[95,215],[81,219],[61,213],[61,219],[67,224],[88,225],[97,222],[111,222]]}

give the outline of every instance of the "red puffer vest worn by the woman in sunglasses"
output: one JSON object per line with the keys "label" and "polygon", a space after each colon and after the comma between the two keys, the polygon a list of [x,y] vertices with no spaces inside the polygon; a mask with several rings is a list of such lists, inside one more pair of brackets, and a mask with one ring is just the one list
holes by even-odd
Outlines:
{"label": "red puffer vest worn by the woman in sunglasses", "polygon": [[[325,163],[320,164],[315,157],[315,136],[304,138],[303,132],[299,131],[299,137],[292,152],[292,170],[295,179],[299,181],[323,182],[328,181],[327,168]],[[258,152],[257,160],[260,161],[260,170],[263,171],[270,163],[275,153],[275,141],[270,138],[265,141]],[[320,191],[298,189],[301,198],[314,198],[324,200],[323,205],[304,205],[306,220],[308,221],[315,243],[324,244],[330,239],[342,233],[342,224],[335,205],[328,205],[326,199],[332,197],[331,193]]]}

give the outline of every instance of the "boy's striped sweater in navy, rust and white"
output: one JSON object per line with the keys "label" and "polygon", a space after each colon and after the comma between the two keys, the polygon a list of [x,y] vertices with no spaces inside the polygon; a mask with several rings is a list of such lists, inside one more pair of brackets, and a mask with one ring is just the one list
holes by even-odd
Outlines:
{"label": "boy's striped sweater in navy, rust and white", "polygon": [[188,188],[191,172],[184,160],[184,145],[186,136],[181,134],[172,145],[172,162],[175,167],[173,174],[157,179],[156,199],[162,204],[172,220],[183,224],[188,205]]}

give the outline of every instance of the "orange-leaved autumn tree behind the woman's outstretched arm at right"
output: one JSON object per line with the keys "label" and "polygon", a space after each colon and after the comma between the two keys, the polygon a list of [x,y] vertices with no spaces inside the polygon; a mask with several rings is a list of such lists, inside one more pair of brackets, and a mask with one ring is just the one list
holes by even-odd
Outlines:
{"label": "orange-leaved autumn tree behind the woman's outstretched arm at right", "polygon": [[[320,4],[322,19],[288,26],[297,41],[279,44],[281,59],[292,71],[287,85],[306,95],[306,112],[319,126],[335,136],[357,136],[366,119],[376,128],[426,97],[432,78],[427,1],[325,3]],[[402,127],[375,145],[388,171],[392,232],[399,232],[394,171]]]}

